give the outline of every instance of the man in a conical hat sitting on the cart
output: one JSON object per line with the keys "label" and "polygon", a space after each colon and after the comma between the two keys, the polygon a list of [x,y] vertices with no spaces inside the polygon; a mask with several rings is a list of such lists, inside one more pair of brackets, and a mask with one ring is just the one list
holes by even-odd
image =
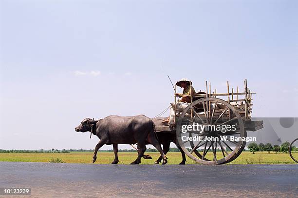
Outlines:
{"label": "man in a conical hat sitting on the cart", "polygon": [[[185,103],[190,103],[191,99],[190,99],[190,95],[195,95],[196,91],[193,88],[193,86],[191,85],[192,82],[190,82],[189,80],[187,80],[186,78],[182,78],[180,81],[176,82],[177,86],[180,86],[183,89],[183,93],[179,94],[177,93],[176,96],[181,97],[181,99],[178,102],[185,102]],[[174,114],[173,109],[170,109],[170,116]],[[163,123],[168,123],[169,122],[170,117],[168,117],[167,119],[163,120]]]}

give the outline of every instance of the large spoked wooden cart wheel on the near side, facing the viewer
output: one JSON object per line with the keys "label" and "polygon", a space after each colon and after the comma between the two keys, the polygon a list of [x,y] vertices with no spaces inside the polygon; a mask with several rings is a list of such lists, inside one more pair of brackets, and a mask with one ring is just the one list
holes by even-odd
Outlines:
{"label": "large spoked wooden cart wheel on the near side, facing the viewer", "polygon": [[[192,127],[186,129],[188,126]],[[189,104],[177,120],[176,137],[188,157],[205,165],[233,161],[246,144],[241,115],[230,103],[217,98]]]}

